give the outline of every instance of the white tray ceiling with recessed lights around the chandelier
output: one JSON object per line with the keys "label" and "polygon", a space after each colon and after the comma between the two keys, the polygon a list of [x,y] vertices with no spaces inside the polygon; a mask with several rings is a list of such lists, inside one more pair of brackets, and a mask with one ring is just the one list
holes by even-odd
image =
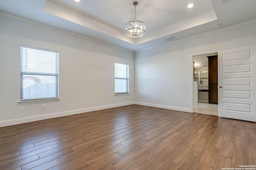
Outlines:
{"label": "white tray ceiling with recessed lights around the chandelier", "polygon": [[[0,0],[0,11],[132,51],[168,43],[166,37],[183,39],[256,17],[256,0],[138,0],[136,19],[146,23],[147,32],[130,38],[124,25],[134,20],[133,1]],[[189,3],[195,6],[189,9]]]}

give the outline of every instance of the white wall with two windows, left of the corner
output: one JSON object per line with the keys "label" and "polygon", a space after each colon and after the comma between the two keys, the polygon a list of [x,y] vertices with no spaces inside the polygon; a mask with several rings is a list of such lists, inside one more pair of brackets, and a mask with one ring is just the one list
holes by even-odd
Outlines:
{"label": "white wall with two windows, left of the corner", "polygon": [[[0,25],[0,127],[134,101],[133,52],[4,16]],[[18,103],[20,44],[59,51],[59,101]],[[114,96],[114,62],[130,66],[130,95]]]}

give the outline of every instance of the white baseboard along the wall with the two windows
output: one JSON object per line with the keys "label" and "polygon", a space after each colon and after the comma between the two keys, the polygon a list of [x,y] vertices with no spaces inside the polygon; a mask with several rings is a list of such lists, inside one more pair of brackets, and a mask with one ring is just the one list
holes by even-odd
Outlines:
{"label": "white baseboard along the wall with the two windows", "polygon": [[21,124],[21,123],[28,123],[28,122],[44,120],[44,119],[50,119],[50,118],[54,118],[54,117],[74,115],[74,114],[85,113],[85,112],[89,112],[89,111],[109,109],[109,108],[113,108],[113,107],[127,106],[127,105],[131,105],[131,104],[135,104],[135,102],[126,102],[126,103],[111,104],[111,105],[105,105],[105,106],[88,107],[88,108],[84,108],[84,109],[62,111],[62,112],[57,112],[57,113],[49,113],[49,114],[45,114],[45,115],[22,117],[22,118],[18,118],[18,119],[0,121],[0,127],[17,125],[17,124]]}

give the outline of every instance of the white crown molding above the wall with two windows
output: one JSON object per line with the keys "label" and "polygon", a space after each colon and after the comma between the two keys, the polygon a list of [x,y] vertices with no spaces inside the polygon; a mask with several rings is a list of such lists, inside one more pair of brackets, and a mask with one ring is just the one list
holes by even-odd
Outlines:
{"label": "white crown molding above the wall with two windows", "polygon": [[128,49],[125,49],[125,48],[122,48],[122,47],[118,47],[116,45],[108,44],[108,43],[105,43],[103,41],[99,41],[99,40],[96,40],[96,39],[93,39],[93,38],[90,38],[90,37],[86,37],[84,35],[69,32],[69,31],[66,31],[64,29],[60,29],[60,28],[56,28],[56,27],[53,27],[53,26],[50,26],[50,25],[46,25],[44,23],[39,23],[39,22],[36,22],[36,21],[28,20],[26,18],[22,18],[22,17],[18,17],[18,16],[15,16],[15,15],[12,15],[12,14],[8,14],[6,12],[0,11],[0,16],[4,16],[6,18],[11,18],[11,19],[14,19],[14,20],[22,21],[22,22],[29,23],[29,24],[32,24],[32,25],[36,25],[36,26],[39,26],[39,27],[43,27],[43,28],[46,28],[46,29],[51,29],[53,31],[57,31],[57,32],[60,32],[60,33],[65,33],[65,34],[72,35],[72,36],[75,36],[75,37],[83,38],[83,39],[86,39],[88,41],[92,41],[94,43],[98,43],[98,44],[101,44],[101,45],[106,45],[106,46],[109,46],[109,47],[114,47],[114,48],[121,49],[121,50],[130,52],[130,53],[134,53],[134,51],[132,51],[132,50],[128,50]]}

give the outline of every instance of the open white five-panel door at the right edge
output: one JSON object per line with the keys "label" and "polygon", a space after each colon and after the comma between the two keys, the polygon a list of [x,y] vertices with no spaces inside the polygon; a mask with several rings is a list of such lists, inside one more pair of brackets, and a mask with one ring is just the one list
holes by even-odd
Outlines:
{"label": "open white five-panel door at the right edge", "polygon": [[218,115],[256,122],[256,45],[218,51]]}

